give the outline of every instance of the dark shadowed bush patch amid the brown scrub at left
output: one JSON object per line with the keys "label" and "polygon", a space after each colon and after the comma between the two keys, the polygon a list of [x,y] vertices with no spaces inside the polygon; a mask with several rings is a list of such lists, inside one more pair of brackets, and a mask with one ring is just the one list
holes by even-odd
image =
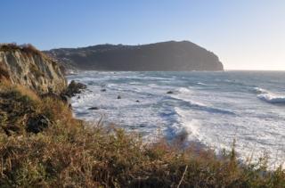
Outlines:
{"label": "dark shadowed bush patch amid the brown scrub at left", "polygon": [[31,133],[42,132],[45,128],[50,127],[52,122],[47,119],[44,115],[38,115],[35,118],[28,119],[27,131]]}

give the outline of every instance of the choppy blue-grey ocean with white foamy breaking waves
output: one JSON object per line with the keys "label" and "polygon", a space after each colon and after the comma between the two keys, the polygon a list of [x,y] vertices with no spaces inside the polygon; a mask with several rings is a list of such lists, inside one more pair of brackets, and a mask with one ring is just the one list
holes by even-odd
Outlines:
{"label": "choppy blue-grey ocean with white foamy breaking waves", "polygon": [[285,162],[285,72],[83,71],[68,79],[87,85],[71,100],[78,119],[103,119],[145,141],[186,135],[216,151],[235,141],[240,159]]}

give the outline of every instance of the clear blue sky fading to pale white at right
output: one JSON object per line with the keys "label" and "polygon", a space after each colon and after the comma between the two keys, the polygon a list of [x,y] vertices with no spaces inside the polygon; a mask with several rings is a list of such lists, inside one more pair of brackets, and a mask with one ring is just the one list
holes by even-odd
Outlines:
{"label": "clear blue sky fading to pale white at right", "polygon": [[285,0],[0,0],[0,43],[169,40],[205,47],[225,69],[285,70]]}

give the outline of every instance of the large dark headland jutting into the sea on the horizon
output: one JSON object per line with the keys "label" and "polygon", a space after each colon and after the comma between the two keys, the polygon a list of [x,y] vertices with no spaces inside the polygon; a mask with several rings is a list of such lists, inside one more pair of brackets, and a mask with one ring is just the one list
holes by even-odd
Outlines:
{"label": "large dark headland jutting into the sea on the horizon", "polygon": [[188,41],[151,45],[94,45],[53,49],[45,53],[68,69],[94,70],[224,70],[215,53]]}

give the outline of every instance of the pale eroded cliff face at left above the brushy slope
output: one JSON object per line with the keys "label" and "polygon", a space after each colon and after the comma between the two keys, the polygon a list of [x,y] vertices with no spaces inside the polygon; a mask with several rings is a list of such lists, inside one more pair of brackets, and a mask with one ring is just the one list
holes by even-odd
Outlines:
{"label": "pale eroded cliff face at left above the brushy slope", "polygon": [[60,65],[31,45],[0,45],[0,79],[37,94],[60,94],[67,87]]}

